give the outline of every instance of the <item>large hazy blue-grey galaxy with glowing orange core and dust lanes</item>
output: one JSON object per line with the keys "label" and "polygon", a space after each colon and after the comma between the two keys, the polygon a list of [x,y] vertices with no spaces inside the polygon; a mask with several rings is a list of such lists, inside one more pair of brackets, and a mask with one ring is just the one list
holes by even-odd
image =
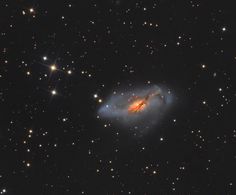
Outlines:
{"label": "large hazy blue-grey galaxy with glowing orange core and dust lanes", "polygon": [[101,118],[135,129],[155,126],[173,103],[173,94],[158,85],[113,93],[99,108]]}

